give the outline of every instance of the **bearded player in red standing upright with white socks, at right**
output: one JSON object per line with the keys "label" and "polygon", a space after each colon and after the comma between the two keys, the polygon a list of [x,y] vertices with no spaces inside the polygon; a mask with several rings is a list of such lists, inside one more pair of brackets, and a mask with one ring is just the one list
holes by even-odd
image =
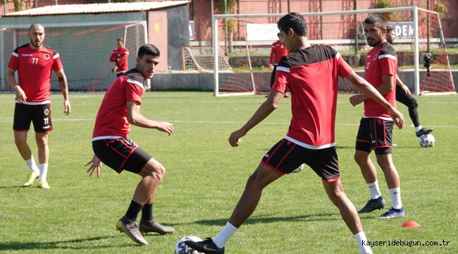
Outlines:
{"label": "bearded player in red standing upright with white socks, at right", "polygon": [[[383,16],[374,14],[364,20],[364,32],[369,46],[373,47],[366,57],[366,80],[395,107],[397,56],[395,49],[386,41],[386,21]],[[374,150],[377,163],[385,175],[391,195],[391,208],[380,218],[392,219],[404,217],[401,202],[400,176],[392,162],[392,128],[393,119],[388,110],[380,107],[366,95],[350,97],[353,106],[364,102],[364,115],[359,123],[354,159],[361,169],[371,194],[371,199],[359,210],[359,213],[380,210],[385,200],[378,187],[376,167],[373,165],[371,151]]]}

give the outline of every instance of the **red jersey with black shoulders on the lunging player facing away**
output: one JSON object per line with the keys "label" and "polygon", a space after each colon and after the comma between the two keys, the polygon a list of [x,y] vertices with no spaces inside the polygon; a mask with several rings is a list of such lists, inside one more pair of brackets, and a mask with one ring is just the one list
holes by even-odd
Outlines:
{"label": "red jersey with black shoulders on the lunging player facing away", "polygon": [[309,149],[335,146],[339,77],[352,68],[333,48],[314,45],[283,56],[272,90],[291,92],[292,119],[286,139]]}

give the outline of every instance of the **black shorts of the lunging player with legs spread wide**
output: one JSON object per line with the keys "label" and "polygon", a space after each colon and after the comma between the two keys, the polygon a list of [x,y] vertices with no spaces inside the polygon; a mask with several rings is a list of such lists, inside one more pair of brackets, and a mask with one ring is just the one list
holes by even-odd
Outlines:
{"label": "black shorts of the lunging player with legs spread wide", "polygon": [[335,147],[308,149],[283,138],[261,159],[261,164],[282,175],[290,174],[304,163],[325,181],[337,181],[340,178]]}

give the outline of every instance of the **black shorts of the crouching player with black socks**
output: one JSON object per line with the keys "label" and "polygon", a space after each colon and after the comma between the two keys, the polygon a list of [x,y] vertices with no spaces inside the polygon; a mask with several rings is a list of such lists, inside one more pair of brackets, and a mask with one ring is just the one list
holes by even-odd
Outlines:
{"label": "black shorts of the crouching player with black socks", "polygon": [[138,174],[152,158],[142,147],[125,138],[94,140],[92,150],[101,162],[118,174],[123,169]]}

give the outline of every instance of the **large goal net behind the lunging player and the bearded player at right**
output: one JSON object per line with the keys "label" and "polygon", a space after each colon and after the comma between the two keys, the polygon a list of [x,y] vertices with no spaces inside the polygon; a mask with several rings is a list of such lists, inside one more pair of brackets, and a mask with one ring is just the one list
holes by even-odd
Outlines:
{"label": "large goal net behind the lunging player and the bearded player at right", "polygon": [[[345,61],[364,77],[364,62],[367,52],[371,49],[366,44],[364,35],[364,19],[380,13],[388,20],[388,25],[395,28],[396,37],[393,47],[398,57],[398,75],[416,94],[450,93],[454,92],[452,71],[448,61],[445,40],[442,35],[438,13],[426,11],[417,7],[383,8],[357,11],[335,11],[320,13],[302,13],[307,21],[307,38],[311,44],[328,44],[340,52]],[[271,44],[277,40],[276,21],[284,14],[221,14],[213,15],[213,52],[228,38],[224,37],[224,20],[235,20],[235,35],[233,45],[247,47],[248,59],[251,61],[252,76],[254,77],[254,92],[270,90],[271,73],[268,66],[268,56]],[[253,27],[253,28],[250,28]],[[218,37],[222,39],[219,40]],[[218,42],[218,43],[217,43]],[[227,44],[227,43],[226,43]],[[215,58],[218,57],[218,50]],[[228,54],[231,56],[231,54]],[[428,59],[430,66],[426,68]],[[236,55],[233,57],[237,57]],[[243,56],[245,57],[245,56]],[[261,57],[260,60],[259,57]],[[231,57],[229,57],[230,60]],[[237,70],[238,61],[230,61],[233,70]],[[234,71],[235,72],[235,71]],[[253,72],[253,71],[252,71]],[[223,94],[223,73],[218,68],[214,71],[215,95]],[[250,80],[244,78],[247,85]],[[340,92],[357,92],[347,81],[340,80]]]}

